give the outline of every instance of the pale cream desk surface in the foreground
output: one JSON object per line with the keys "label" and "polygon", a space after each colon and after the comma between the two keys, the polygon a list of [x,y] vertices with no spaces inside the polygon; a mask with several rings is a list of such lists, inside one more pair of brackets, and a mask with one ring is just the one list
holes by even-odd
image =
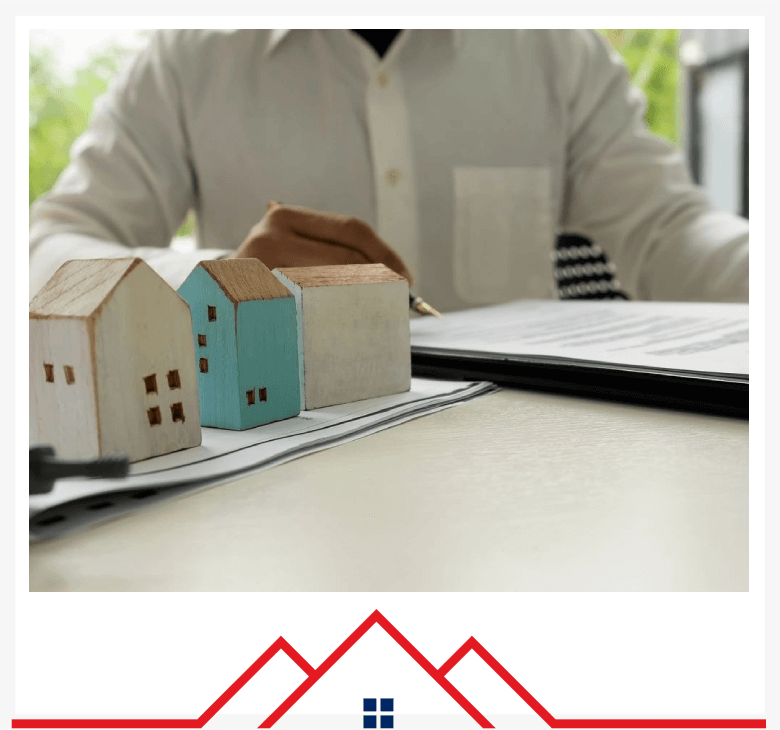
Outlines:
{"label": "pale cream desk surface in the foreground", "polygon": [[747,591],[747,421],[504,390],[30,546],[32,591]]}

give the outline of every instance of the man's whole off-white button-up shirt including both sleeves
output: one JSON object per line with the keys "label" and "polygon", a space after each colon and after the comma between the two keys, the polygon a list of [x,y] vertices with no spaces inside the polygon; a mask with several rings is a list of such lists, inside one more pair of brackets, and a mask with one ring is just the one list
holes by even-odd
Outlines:
{"label": "man's whole off-white button-up shirt including both sleeves", "polygon": [[747,221],[644,110],[590,30],[404,30],[382,59],[344,29],[160,31],[32,206],[30,294],[72,258],[141,256],[177,287],[280,200],[365,220],[445,311],[555,297],[564,230],[632,298],[747,301]]}

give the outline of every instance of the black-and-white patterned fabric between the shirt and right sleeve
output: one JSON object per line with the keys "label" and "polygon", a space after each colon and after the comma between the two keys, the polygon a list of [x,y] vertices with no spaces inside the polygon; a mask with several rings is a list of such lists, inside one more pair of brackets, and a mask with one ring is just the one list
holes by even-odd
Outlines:
{"label": "black-and-white patterned fabric between the shirt and right sleeve", "polygon": [[561,299],[629,299],[615,278],[615,264],[584,236],[558,236],[552,252],[553,276]]}

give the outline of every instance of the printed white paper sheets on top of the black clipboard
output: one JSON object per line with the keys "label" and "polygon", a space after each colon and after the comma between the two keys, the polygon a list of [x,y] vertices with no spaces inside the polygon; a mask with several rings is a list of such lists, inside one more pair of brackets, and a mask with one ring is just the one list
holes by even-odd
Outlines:
{"label": "printed white paper sheets on top of the black clipboard", "polygon": [[512,302],[411,323],[412,347],[539,356],[748,380],[749,305]]}

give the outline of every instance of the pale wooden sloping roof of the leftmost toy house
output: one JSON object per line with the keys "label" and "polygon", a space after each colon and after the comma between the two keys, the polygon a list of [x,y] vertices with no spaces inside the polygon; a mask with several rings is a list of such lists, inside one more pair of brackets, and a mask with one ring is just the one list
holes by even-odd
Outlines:
{"label": "pale wooden sloping roof of the leftmost toy house", "polygon": [[30,302],[35,317],[90,317],[141,259],[66,261]]}

